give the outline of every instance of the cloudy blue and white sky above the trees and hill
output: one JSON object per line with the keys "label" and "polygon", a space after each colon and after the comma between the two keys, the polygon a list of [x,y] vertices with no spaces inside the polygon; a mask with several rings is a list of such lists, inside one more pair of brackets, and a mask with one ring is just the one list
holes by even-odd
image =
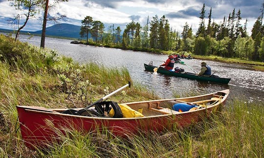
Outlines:
{"label": "cloudy blue and white sky above the trees and hill", "polygon": [[[12,0],[0,0],[0,28],[16,29],[11,25],[10,19],[21,14],[11,6]],[[49,0],[52,3],[53,0]],[[199,14],[205,4],[205,24],[208,23],[208,14],[212,8],[212,21],[220,24],[223,18],[228,18],[235,9],[235,13],[241,10],[242,26],[247,20],[247,33],[250,36],[253,24],[261,15],[264,0],[68,0],[59,3],[49,11],[50,15],[65,15],[66,19],[59,23],[81,25],[81,20],[86,16],[93,20],[100,20],[106,26],[114,24],[122,30],[132,20],[146,25],[147,18],[153,19],[155,15],[160,19],[165,15],[173,30],[181,33],[187,22],[195,34],[200,23]],[[22,20],[21,20],[22,21]],[[47,23],[47,27],[55,23]],[[42,29],[42,20],[30,19],[24,27],[24,31],[38,31]],[[107,28],[106,28],[107,29]]]}

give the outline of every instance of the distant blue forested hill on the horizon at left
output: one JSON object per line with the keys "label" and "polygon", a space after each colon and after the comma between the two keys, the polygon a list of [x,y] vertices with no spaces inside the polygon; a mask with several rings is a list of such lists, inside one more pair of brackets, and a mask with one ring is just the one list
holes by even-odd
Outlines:
{"label": "distant blue forested hill on the horizon at left", "polygon": [[[79,33],[81,31],[81,26],[60,23],[46,28],[47,36],[55,37],[65,37],[65,38],[75,38],[75,39],[84,39],[81,38]],[[0,29],[0,32],[14,32],[14,30]],[[41,35],[42,30],[39,31],[21,31],[21,33],[30,33],[33,35]],[[90,35],[89,35],[90,38]]]}

